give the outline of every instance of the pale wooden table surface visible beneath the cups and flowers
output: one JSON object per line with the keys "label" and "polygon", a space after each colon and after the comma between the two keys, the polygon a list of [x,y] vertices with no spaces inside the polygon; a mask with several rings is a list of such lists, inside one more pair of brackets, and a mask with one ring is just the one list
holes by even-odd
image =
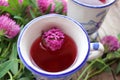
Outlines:
{"label": "pale wooden table surface visible beneath the cups and flowers", "polygon": [[[111,6],[102,26],[98,30],[98,33],[100,38],[106,35],[117,36],[117,34],[120,33],[120,1]],[[73,75],[73,80],[77,80],[80,75],[80,71]],[[115,76],[112,73],[104,72],[93,77],[91,80],[120,80],[120,75]]]}

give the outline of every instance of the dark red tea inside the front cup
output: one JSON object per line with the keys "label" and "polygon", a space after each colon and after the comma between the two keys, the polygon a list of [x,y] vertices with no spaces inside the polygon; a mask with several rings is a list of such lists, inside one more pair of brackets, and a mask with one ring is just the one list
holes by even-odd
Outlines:
{"label": "dark red tea inside the front cup", "polygon": [[51,51],[40,46],[42,38],[39,37],[32,44],[30,53],[33,61],[43,70],[58,72],[70,67],[77,55],[74,41],[65,35],[64,43],[59,50]]}

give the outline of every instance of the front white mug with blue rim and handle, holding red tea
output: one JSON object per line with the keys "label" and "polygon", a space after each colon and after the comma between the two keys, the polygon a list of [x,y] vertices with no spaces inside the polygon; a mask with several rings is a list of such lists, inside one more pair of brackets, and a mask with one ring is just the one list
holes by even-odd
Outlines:
{"label": "front white mug with blue rim and handle, holding red tea", "polygon": [[[57,28],[70,36],[77,46],[77,55],[74,62],[67,69],[59,72],[43,70],[37,66],[30,55],[32,43],[50,25],[56,25]],[[33,73],[36,80],[70,80],[71,75],[80,70],[88,60],[100,57],[103,54],[104,48],[100,42],[90,43],[86,30],[76,20],[64,15],[48,14],[33,19],[23,28],[17,41],[17,50],[21,61]],[[66,59],[66,61],[69,60]]]}

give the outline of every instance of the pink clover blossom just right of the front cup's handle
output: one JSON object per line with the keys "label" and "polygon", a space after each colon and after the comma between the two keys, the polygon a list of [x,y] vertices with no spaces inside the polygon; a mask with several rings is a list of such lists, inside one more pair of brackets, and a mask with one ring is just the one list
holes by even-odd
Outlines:
{"label": "pink clover blossom just right of the front cup's handle", "polygon": [[120,48],[118,39],[114,36],[105,36],[101,39],[101,43],[104,45],[106,52],[116,51]]}

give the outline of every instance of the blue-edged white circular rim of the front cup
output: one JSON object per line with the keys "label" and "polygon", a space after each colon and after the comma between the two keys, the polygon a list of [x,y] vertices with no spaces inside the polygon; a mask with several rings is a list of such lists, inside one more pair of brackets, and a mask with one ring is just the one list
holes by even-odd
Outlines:
{"label": "blue-edged white circular rim of the front cup", "polygon": [[[72,22],[74,22],[76,25],[78,25],[79,27],[81,27],[81,29],[83,30],[83,32],[85,33],[85,36],[87,38],[87,41],[88,41],[88,51],[87,51],[87,54],[86,54],[86,57],[85,59],[83,60],[83,62],[77,66],[74,70],[72,71],[69,71],[69,72],[66,72],[66,73],[61,73],[61,74],[45,74],[45,73],[41,73],[41,72],[38,72],[36,70],[34,70],[31,66],[29,66],[27,64],[27,61],[25,61],[22,57],[22,54],[21,54],[21,50],[20,50],[20,42],[21,42],[21,38],[22,38],[22,35],[24,33],[24,31],[29,27],[29,25],[31,25],[32,23],[34,23],[34,21],[37,21],[37,20],[40,20],[40,19],[43,19],[45,18],[46,16],[59,16],[59,17],[62,17],[62,18],[65,18],[65,19],[68,19],[68,20],[71,20]],[[25,27],[23,28],[23,30],[20,32],[20,35],[18,37],[18,41],[17,41],[17,51],[18,51],[18,55],[21,59],[21,61],[23,62],[23,64],[25,65],[25,67],[27,69],[29,69],[30,71],[33,71],[33,73],[36,73],[38,75],[42,75],[42,76],[47,76],[49,78],[61,78],[61,77],[65,77],[65,76],[69,76],[69,75],[72,75],[74,72],[78,71],[80,68],[82,68],[84,66],[84,64],[86,63],[87,59],[88,59],[88,56],[89,56],[89,52],[90,52],[90,40],[89,40],[89,37],[88,37],[88,34],[87,34],[87,31],[83,28],[83,26],[73,20],[72,18],[68,17],[68,16],[64,16],[64,15],[60,15],[60,14],[47,14],[47,15],[43,15],[43,16],[40,16],[40,17],[37,17],[33,20],[31,20],[28,24],[25,25]]]}

